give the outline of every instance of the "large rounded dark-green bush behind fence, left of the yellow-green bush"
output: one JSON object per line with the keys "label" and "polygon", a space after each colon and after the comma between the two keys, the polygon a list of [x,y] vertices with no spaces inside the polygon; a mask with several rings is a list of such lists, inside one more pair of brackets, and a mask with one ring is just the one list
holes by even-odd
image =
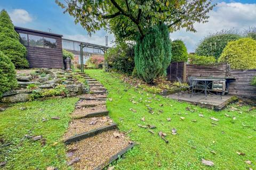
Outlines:
{"label": "large rounded dark-green bush behind fence, left of the yellow-green bush", "polygon": [[201,40],[197,46],[195,53],[201,56],[214,56],[217,60],[220,57],[223,49],[229,41],[235,41],[241,38],[234,30],[220,31],[212,33]]}

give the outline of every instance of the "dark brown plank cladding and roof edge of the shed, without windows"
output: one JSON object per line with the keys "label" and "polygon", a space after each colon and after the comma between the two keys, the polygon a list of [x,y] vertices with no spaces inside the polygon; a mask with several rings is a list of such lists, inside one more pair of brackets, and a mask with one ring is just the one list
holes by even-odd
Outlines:
{"label": "dark brown plank cladding and roof edge of the shed, without windows", "polygon": [[57,48],[45,48],[25,45],[27,48],[27,60],[29,67],[36,68],[63,68],[62,58],[62,37],[61,35],[55,35],[53,33],[47,33],[42,31],[23,29],[15,27],[18,33],[26,33],[28,35],[42,36],[46,38],[53,38],[57,41]]}

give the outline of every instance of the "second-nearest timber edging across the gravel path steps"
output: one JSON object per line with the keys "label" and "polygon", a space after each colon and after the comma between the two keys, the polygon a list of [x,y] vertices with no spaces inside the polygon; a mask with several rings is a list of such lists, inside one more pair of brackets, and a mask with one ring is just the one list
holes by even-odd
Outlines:
{"label": "second-nearest timber edging across the gravel path steps", "polygon": [[116,129],[116,128],[117,128],[117,124],[112,123],[110,125],[103,126],[101,128],[93,129],[93,130],[88,131],[88,132],[84,132],[84,133],[74,135],[73,137],[70,137],[70,138],[66,139],[64,142],[65,142],[66,145],[69,145],[72,142],[81,141],[83,139],[93,137],[93,136],[95,136],[99,133],[106,132],[106,131],[109,131],[109,130],[113,130],[113,129]]}

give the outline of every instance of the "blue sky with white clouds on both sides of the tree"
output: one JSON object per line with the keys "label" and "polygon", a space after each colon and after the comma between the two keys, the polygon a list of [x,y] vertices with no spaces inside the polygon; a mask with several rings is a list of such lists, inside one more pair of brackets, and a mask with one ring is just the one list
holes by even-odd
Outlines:
{"label": "blue sky with white clouds on both sides of the tree", "polygon": [[[256,0],[214,0],[217,6],[208,14],[207,23],[195,23],[197,32],[187,32],[184,29],[170,33],[170,38],[185,42],[188,52],[194,52],[196,45],[209,33],[222,29],[237,29],[243,31],[256,27]],[[54,0],[0,0],[0,10],[5,9],[15,26],[47,31],[63,35],[63,38],[85,41],[87,43],[105,45],[108,36],[109,46],[115,39],[105,30],[97,31],[92,37],[69,14],[63,14],[63,9]]]}

